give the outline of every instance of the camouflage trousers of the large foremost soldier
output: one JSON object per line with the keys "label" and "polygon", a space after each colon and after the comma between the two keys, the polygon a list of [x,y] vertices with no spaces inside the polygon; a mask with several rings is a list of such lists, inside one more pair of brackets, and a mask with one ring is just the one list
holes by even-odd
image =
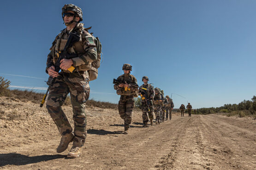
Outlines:
{"label": "camouflage trousers of the large foremost soldier", "polygon": [[62,111],[67,95],[70,93],[73,108],[74,139],[73,146],[82,147],[86,138],[86,114],[84,103],[89,98],[89,75],[87,72],[80,73],[59,73],[53,87],[49,91],[47,99],[48,113],[57,125],[60,135],[67,136],[72,133],[72,127]]}

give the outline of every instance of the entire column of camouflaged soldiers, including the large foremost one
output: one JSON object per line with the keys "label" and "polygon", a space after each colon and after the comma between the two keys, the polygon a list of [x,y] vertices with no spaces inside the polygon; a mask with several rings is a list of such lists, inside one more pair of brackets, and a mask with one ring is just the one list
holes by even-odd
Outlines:
{"label": "entire column of camouflaged soldiers, including the large foremost one", "polygon": [[[101,43],[92,34],[89,34],[89,28],[84,28],[83,23],[80,23],[83,21],[83,12],[78,6],[73,4],[63,6],[62,19],[66,28],[56,36],[46,62],[46,73],[50,76],[47,82],[49,95],[46,108],[61,135],[57,153],[64,152],[72,142],[67,158],[77,158],[81,154],[81,147],[87,136],[85,103],[89,98],[89,80],[97,78],[97,68],[101,59]],[[119,115],[124,120],[124,134],[128,134],[134,108],[134,97],[138,95],[142,97],[143,127],[149,127],[149,120],[150,125],[153,125],[153,112],[155,112],[156,125],[164,121],[165,112],[166,120],[168,115],[172,119],[174,107],[172,99],[169,96],[164,97],[159,88],[154,88],[149,84],[147,76],[142,78],[143,85],[139,87],[137,79],[131,75],[132,66],[130,64],[124,64],[123,70],[124,74],[116,80],[114,79],[114,89],[120,95],[118,108]],[[47,93],[42,100],[41,107]],[[69,93],[73,108],[74,134],[61,109]],[[191,116],[191,105],[188,105],[187,108],[190,110]]]}

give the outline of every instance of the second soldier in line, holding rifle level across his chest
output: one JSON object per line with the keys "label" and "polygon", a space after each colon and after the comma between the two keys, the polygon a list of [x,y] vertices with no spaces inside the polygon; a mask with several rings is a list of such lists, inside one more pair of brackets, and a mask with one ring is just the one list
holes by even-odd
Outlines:
{"label": "second soldier in line, holding rifle level across his chest", "polygon": [[137,97],[138,92],[137,79],[130,74],[132,70],[131,68],[132,66],[130,64],[124,64],[124,74],[117,78],[117,80],[121,82],[114,85],[117,94],[121,95],[118,103],[118,110],[120,117],[124,119],[124,134],[128,134],[129,125],[131,124],[132,109],[134,108],[133,97]]}

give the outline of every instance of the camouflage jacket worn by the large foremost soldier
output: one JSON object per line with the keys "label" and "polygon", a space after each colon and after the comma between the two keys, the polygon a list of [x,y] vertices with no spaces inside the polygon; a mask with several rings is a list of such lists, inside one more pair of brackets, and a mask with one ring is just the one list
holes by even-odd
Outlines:
{"label": "camouflage jacket worn by the large foremost soldier", "polygon": [[[68,48],[68,54],[70,54],[73,61],[73,66],[77,68],[78,71],[86,71],[91,68],[91,63],[97,60],[96,45],[93,41],[92,35],[83,28],[83,23],[78,23],[75,28],[71,30],[72,33],[78,34],[80,40]],[[59,51],[64,49],[64,46],[69,37],[69,32],[67,29],[63,29],[60,34],[58,34],[52,43],[50,48],[50,53],[47,57],[46,62],[46,73],[47,69],[55,64],[58,59]],[[65,70],[65,72],[68,72]]]}

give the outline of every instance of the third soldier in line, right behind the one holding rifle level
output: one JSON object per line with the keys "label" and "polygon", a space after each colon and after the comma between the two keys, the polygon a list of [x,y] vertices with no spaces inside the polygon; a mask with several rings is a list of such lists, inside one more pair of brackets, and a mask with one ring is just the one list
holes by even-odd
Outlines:
{"label": "third soldier in line, right behind the one holding rifle level", "polygon": [[[143,85],[139,88],[139,94],[142,96],[142,119],[143,119],[143,127],[149,127],[148,122],[150,119],[150,125],[153,126],[153,98],[155,96],[155,91],[153,85],[148,84],[149,78],[147,76],[143,76],[142,78]],[[147,115],[149,114],[149,117]]]}

